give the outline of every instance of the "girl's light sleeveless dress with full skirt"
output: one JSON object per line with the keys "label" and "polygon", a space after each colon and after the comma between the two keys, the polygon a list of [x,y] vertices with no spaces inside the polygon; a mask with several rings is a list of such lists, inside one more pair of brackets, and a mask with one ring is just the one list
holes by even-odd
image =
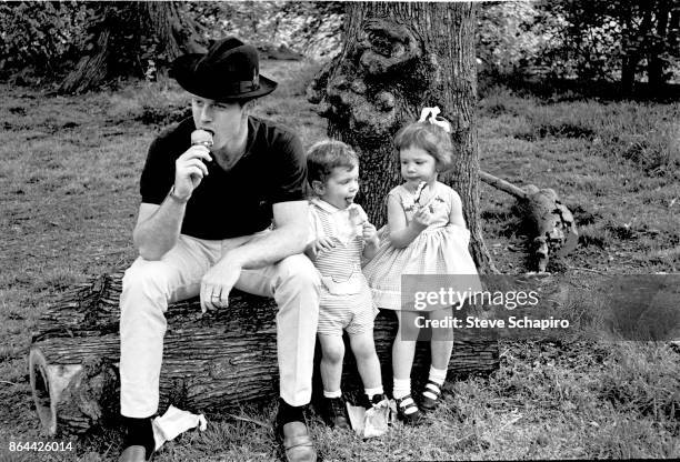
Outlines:
{"label": "girl's light sleeveless dress with full skirt", "polygon": [[[398,185],[388,195],[399,200],[406,212],[407,223],[410,223],[418,210],[414,194],[403,185]],[[466,278],[453,279],[461,284],[453,289],[461,293],[469,289],[481,290],[474,261],[468,251],[470,231],[449,222],[453,203],[460,203],[458,193],[448,185],[436,182],[432,188],[426,188],[423,195],[427,195],[423,199],[431,204],[432,223],[402,249],[392,247],[389,241],[389,224],[383,227],[379,232],[378,253],[363,268],[378,308],[411,309],[407,308],[407,304],[402,307],[402,274],[468,274]],[[422,202],[421,200],[420,203]]]}

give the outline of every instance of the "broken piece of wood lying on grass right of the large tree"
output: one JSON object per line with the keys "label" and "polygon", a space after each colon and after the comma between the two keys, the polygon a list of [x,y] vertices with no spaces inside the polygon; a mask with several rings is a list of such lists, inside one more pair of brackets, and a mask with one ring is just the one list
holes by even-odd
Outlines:
{"label": "broken piece of wood lying on grass right of the large tree", "polygon": [[563,257],[577,248],[579,232],[576,221],[554,190],[538,189],[533,184],[518,188],[481,170],[479,179],[517,198],[521,218],[527,220],[532,229],[531,252],[539,272],[546,271],[550,253]]}

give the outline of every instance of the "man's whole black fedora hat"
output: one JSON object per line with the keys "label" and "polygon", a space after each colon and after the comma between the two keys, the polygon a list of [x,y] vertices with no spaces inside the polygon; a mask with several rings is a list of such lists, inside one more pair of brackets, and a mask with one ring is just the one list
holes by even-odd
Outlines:
{"label": "man's whole black fedora hat", "polygon": [[260,76],[258,50],[236,37],[216,41],[204,54],[179,57],[170,77],[190,93],[224,102],[260,98],[277,88],[277,82]]}

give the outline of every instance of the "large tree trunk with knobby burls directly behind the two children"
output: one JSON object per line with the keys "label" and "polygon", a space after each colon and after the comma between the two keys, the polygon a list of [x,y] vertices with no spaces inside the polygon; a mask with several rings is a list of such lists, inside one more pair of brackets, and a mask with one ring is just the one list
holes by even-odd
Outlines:
{"label": "large tree trunk with knobby burls directly behind the two children", "polygon": [[440,180],[458,191],[482,273],[497,272],[479,223],[479,155],[472,3],[351,2],[340,56],[308,93],[328,118],[328,133],[352,145],[366,188],[358,198],[369,219],[386,222],[387,193],[402,180],[392,139],[438,106],[451,121],[457,158]]}

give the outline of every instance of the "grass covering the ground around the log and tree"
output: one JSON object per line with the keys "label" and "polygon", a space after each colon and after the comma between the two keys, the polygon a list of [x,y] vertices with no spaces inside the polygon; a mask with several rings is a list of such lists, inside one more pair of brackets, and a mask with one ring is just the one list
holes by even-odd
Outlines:
{"label": "grass covering the ground around the log and tree", "polygon": [[[281,84],[254,108],[296,128],[306,145],[326,131],[303,97],[316,69],[264,62]],[[29,332],[73,283],[132,261],[146,151],[188,100],[168,80],[73,98],[1,89],[0,461],[116,460],[114,430],[72,440],[70,453],[8,453],[10,441],[48,440],[28,383]],[[560,277],[587,287],[600,273],[678,272],[679,112],[677,103],[539,100],[493,88],[479,104],[481,165],[518,185],[553,188],[574,213],[580,245],[549,267]],[[480,213],[501,271],[527,271],[509,197],[482,185]],[[584,299],[561,309],[598,320]],[[311,431],[326,461],[678,458],[679,378],[668,343],[502,341],[500,369],[452,382],[422,428],[399,424],[362,442],[312,415]],[[208,431],[167,443],[157,460],[276,460],[273,412],[209,414]]]}

